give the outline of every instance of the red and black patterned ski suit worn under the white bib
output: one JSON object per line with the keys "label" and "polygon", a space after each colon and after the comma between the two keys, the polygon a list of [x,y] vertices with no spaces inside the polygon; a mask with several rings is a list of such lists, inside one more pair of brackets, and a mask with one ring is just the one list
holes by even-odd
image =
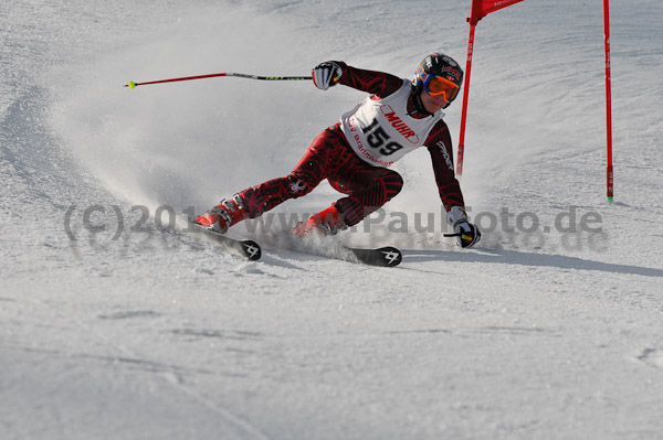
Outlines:
{"label": "red and black patterned ski suit worn under the white bib", "polygon": [[[369,93],[371,99],[386,98],[403,86],[403,79],[398,76],[351,67],[343,62],[335,63],[343,68],[338,84]],[[428,112],[417,111],[412,95],[408,98],[407,109],[417,119],[431,117]],[[452,142],[446,124],[440,119],[423,143],[431,154],[444,208],[464,207],[463,194],[453,171]],[[335,206],[348,226],[358,224],[385,205],[403,185],[402,178],[396,171],[373,167],[359,158],[341,131],[340,122],[337,122],[315,138],[292,173],[249,187],[239,195],[249,216],[254,218],[286,200],[308,194],[324,179],[335,190],[346,194]]]}

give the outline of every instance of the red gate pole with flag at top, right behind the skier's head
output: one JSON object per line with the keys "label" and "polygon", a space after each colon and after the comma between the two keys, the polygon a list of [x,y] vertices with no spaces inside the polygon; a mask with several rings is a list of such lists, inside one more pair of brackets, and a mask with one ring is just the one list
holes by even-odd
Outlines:
{"label": "red gate pole with flag at top, right behind the skier's head", "polygon": [[463,88],[463,110],[461,115],[461,135],[459,137],[459,158],[456,163],[456,174],[463,175],[463,157],[465,154],[465,122],[467,120],[467,98],[470,95],[470,74],[472,73],[472,53],[474,51],[474,29],[476,23],[491,12],[509,7],[523,0],[472,0],[472,13],[467,22],[470,23],[470,37],[467,39],[467,64],[465,66],[465,85]]}

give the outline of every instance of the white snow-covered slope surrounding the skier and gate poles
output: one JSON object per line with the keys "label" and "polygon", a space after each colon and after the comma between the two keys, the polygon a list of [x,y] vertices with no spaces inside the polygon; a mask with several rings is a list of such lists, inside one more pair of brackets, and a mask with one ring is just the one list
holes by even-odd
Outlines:
{"label": "white snow-covered slope surrounding the skier and gate poles", "polygon": [[432,51],[464,60],[469,0],[3,2],[0,437],[663,439],[663,4],[611,3],[614,202],[602,2],[527,0],[476,32],[462,186],[482,243],[442,237],[415,152],[382,217],[340,237],[403,249],[377,269],[270,249],[266,226],[257,262],[182,230],[362,94],[122,85],[325,60],[410,77]]}

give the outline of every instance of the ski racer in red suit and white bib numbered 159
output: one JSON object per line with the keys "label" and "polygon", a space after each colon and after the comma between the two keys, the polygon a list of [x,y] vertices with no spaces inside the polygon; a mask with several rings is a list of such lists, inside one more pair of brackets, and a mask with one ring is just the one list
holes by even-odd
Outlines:
{"label": "ski racer in red suit and white bib numbered 159", "polygon": [[225,233],[242,219],[257,217],[286,200],[308,194],[327,179],[345,197],[293,232],[336,234],[393,198],[403,180],[388,167],[425,146],[459,246],[470,247],[480,240],[478,228],[465,214],[463,193],[453,171],[451,136],[442,119],[442,109],[455,99],[463,83],[463,71],[453,58],[441,53],[428,55],[413,81],[338,61],[315,66],[313,79],[323,90],[341,84],[370,95],[319,133],[292,173],[222,200],[196,217],[196,223]]}

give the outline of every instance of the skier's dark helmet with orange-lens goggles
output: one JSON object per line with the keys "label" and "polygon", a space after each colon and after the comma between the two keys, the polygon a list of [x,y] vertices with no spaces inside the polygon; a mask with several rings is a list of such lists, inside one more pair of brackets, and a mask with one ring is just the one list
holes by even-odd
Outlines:
{"label": "skier's dark helmet with orange-lens goggles", "polygon": [[463,69],[454,58],[443,53],[433,53],[423,58],[412,79],[417,97],[421,96],[422,90],[431,95],[444,95],[448,101],[444,108],[459,96],[462,84]]}

